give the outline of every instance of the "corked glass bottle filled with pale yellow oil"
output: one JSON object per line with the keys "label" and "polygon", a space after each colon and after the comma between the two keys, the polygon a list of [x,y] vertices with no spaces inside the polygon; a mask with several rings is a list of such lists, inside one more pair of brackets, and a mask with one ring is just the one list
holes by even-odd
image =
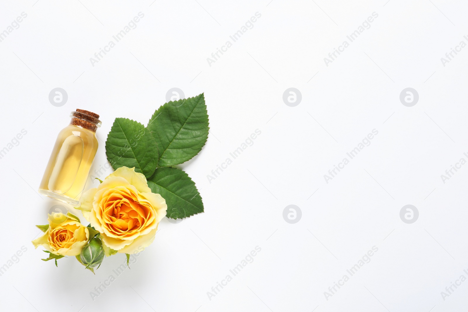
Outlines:
{"label": "corked glass bottle filled with pale yellow oil", "polygon": [[39,193],[78,205],[97,151],[99,115],[77,109],[60,131],[39,186]]}

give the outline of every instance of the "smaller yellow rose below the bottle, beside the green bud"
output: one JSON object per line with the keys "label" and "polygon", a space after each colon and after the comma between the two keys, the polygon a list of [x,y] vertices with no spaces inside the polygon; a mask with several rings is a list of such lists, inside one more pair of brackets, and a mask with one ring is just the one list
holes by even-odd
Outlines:
{"label": "smaller yellow rose below the bottle, beside the green bud", "polygon": [[72,214],[54,213],[50,214],[47,220],[49,228],[43,236],[32,241],[34,247],[43,246],[52,254],[62,256],[80,254],[89,239],[88,228]]}

